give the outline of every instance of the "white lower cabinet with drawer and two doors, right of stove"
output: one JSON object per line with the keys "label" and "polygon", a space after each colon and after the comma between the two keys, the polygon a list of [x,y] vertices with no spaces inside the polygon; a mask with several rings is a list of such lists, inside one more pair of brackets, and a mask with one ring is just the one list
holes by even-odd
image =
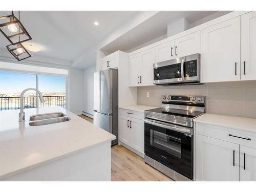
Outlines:
{"label": "white lower cabinet with drawer and two doors, right of stove", "polygon": [[256,181],[256,133],[195,123],[195,181]]}

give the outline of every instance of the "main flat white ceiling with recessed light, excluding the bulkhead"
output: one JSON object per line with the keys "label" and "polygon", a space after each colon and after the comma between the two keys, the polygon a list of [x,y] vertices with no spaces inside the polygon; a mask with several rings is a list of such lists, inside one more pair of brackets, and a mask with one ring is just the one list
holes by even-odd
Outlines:
{"label": "main flat white ceiling with recessed light, excluding the bulkhead", "polygon": [[[20,20],[32,36],[30,42],[42,48],[40,52],[32,53],[32,56],[74,61],[84,49],[97,44],[137,12],[20,11]],[[0,11],[0,16],[10,13],[11,11]],[[95,21],[99,22],[99,26],[94,25]],[[6,50],[8,44],[9,41],[0,34],[0,49]],[[4,50],[1,50],[1,55]]]}

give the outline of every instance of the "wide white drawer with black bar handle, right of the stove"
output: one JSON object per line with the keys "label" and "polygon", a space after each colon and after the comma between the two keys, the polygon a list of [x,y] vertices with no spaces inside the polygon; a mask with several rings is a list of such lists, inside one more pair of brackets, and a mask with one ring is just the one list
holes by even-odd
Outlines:
{"label": "wide white drawer with black bar handle, right of the stove", "polygon": [[[196,122],[195,124],[196,124],[195,126],[196,134],[256,148],[256,133],[254,132],[236,130],[236,129],[231,129],[227,127],[215,126],[215,125],[198,123],[198,122]],[[233,137],[233,136],[237,136],[237,137]],[[243,139],[243,138],[249,138],[250,140]]]}

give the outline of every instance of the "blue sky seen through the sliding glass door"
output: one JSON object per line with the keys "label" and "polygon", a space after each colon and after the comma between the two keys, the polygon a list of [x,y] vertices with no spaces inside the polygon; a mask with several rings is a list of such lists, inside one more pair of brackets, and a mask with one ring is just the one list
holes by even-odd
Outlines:
{"label": "blue sky seen through the sliding glass door", "polygon": [[[0,71],[0,93],[19,93],[27,88],[36,88],[36,75]],[[40,92],[63,92],[66,90],[66,78],[38,76]]]}

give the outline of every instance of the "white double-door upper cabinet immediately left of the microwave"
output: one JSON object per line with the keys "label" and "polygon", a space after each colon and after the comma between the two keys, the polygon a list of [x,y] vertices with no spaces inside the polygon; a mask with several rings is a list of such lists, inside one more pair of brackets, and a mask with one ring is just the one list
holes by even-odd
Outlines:
{"label": "white double-door upper cabinet immediately left of the microwave", "polygon": [[130,86],[153,86],[153,64],[155,63],[155,48],[147,49],[131,55]]}

